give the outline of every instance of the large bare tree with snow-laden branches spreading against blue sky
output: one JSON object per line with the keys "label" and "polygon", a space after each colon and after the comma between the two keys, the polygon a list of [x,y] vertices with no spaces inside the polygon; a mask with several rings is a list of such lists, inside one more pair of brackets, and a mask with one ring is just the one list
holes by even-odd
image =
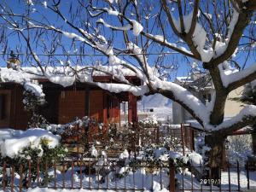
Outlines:
{"label": "large bare tree with snow-laden branches spreading against blue sky", "polygon": [[[27,0],[19,4],[23,12],[0,3],[4,54],[8,39],[20,38],[26,44],[18,47],[26,50],[24,61],[39,67],[50,80],[53,72],[47,68],[64,65],[71,69],[73,81],[134,95],[160,93],[178,102],[209,133],[209,166],[212,177],[218,177],[224,139],[255,120],[256,107],[248,105],[224,121],[230,91],[256,78],[256,64],[247,64],[256,40],[254,0]],[[72,57],[70,50],[79,54]],[[179,55],[168,54],[170,50]],[[170,81],[173,69],[193,60],[200,62],[214,84],[215,96],[207,106]],[[86,66],[74,67],[84,62]],[[240,70],[230,70],[226,63]],[[125,79],[127,70],[144,84]],[[94,82],[90,78],[94,71],[112,75],[117,83]]]}

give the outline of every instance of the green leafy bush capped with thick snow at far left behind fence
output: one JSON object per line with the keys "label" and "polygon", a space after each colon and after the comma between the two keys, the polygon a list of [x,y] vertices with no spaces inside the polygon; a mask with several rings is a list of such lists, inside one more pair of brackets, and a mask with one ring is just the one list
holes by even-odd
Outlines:
{"label": "green leafy bush capped with thick snow at far left behind fence", "polygon": [[[8,132],[11,133],[11,131]],[[32,181],[36,180],[39,167],[41,182],[44,183],[46,178],[49,179],[49,176],[45,175],[45,168],[63,160],[67,154],[66,148],[60,145],[60,137],[44,129],[29,129],[15,135],[5,134],[4,137],[0,137],[0,152],[1,161],[5,161],[7,167],[13,166],[15,170],[19,170],[20,165],[23,166],[24,184],[29,176],[29,160]]]}

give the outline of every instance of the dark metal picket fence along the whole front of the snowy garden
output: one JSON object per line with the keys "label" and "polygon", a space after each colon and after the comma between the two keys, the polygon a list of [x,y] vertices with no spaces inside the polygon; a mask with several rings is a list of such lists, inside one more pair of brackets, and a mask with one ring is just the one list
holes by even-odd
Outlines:
{"label": "dark metal picket fence along the whole front of the snowy garden", "polygon": [[[13,165],[2,162],[2,189],[24,191],[29,188],[112,189],[115,191],[242,191],[256,189],[256,172],[247,166],[227,166],[219,179],[195,177],[200,166],[148,165],[141,161],[118,165],[111,160],[87,158],[61,163],[27,160]],[[0,189],[1,189],[0,187]]]}

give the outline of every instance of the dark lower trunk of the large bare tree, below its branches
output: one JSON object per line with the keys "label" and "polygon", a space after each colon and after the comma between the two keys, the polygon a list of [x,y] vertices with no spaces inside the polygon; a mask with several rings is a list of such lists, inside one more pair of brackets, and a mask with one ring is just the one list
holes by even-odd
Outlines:
{"label": "dark lower trunk of the large bare tree, below its branches", "polygon": [[[205,137],[205,144],[207,147],[211,148],[206,152],[207,166],[210,170],[207,170],[206,177],[212,179],[220,179],[220,168],[224,167],[224,153],[225,153],[225,141],[224,136],[221,134],[211,134]],[[205,162],[206,163],[206,162]],[[218,183],[215,180],[214,183]]]}

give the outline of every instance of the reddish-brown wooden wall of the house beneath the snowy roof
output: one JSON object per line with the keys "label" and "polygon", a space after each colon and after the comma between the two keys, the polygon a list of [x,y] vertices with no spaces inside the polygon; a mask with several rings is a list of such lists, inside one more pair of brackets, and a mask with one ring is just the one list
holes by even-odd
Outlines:
{"label": "reddish-brown wooden wall of the house beneath the snowy roof", "polygon": [[[23,107],[23,88],[11,84],[0,90],[7,94],[6,104],[9,119],[0,119],[0,127],[25,130],[29,114]],[[44,117],[51,124],[66,124],[76,117],[89,115],[100,123],[119,123],[119,98],[105,90],[54,90],[44,89],[46,104],[41,108]],[[108,102],[106,98],[108,96]],[[108,113],[107,113],[108,112]]]}

